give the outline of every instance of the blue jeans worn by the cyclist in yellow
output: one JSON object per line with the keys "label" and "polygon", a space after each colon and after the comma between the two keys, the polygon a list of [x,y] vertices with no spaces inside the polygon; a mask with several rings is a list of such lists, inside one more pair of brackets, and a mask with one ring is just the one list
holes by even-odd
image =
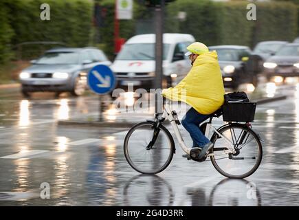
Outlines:
{"label": "blue jeans worn by the cyclist in yellow", "polygon": [[190,133],[193,141],[193,146],[203,147],[210,142],[210,140],[208,140],[208,138],[203,135],[203,133],[199,129],[199,124],[201,124],[201,122],[207,120],[208,118],[209,115],[202,115],[195,109],[191,108],[187,111],[186,115],[181,120],[181,124],[183,124],[184,128]]}

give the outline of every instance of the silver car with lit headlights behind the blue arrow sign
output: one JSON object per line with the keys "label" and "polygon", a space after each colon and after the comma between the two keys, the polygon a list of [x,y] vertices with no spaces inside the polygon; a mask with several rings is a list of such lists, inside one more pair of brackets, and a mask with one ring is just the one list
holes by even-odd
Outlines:
{"label": "silver car with lit headlights behind the blue arrow sign", "polygon": [[111,65],[104,53],[94,47],[48,50],[31,63],[19,75],[24,96],[34,91],[54,91],[56,95],[69,91],[80,96],[87,89],[89,70],[99,64]]}

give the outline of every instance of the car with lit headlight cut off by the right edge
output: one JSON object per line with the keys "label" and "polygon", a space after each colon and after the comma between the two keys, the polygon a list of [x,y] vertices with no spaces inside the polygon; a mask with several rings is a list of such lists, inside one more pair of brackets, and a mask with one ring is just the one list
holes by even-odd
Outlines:
{"label": "car with lit headlight cut off by the right edge", "polygon": [[265,75],[272,76],[299,76],[299,43],[289,43],[276,52],[264,63]]}

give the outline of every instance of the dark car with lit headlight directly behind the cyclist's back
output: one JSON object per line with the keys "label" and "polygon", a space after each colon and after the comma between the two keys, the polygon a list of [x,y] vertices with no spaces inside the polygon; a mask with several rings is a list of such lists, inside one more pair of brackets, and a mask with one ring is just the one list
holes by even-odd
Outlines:
{"label": "dark car with lit headlight directly behind the cyclist's back", "polygon": [[256,72],[251,71],[248,63],[252,59],[249,47],[239,45],[219,45],[209,47],[216,50],[225,87],[236,89],[241,83],[256,85]]}

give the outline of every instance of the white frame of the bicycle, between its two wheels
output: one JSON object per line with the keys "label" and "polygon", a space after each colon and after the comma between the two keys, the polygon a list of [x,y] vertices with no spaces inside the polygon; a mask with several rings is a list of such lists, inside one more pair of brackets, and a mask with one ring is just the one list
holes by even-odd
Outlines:
{"label": "white frame of the bicycle, between its two wheels", "polygon": [[[190,150],[191,148],[186,146],[183,137],[181,136],[181,132],[179,131],[179,127],[177,126],[177,122],[175,121],[175,118],[173,117],[173,111],[170,107],[170,101],[167,100],[166,104],[164,105],[164,111],[162,113],[162,120],[169,120],[171,126],[173,127],[173,130],[175,131],[175,136],[177,137],[177,140],[179,142],[179,145],[181,146],[181,148],[183,149],[184,152],[190,154]],[[212,122],[208,122],[207,126],[206,126],[206,133],[205,136],[209,137],[210,136],[210,132],[213,131],[214,133],[217,133],[219,136],[223,137],[223,140],[225,140],[225,142],[227,142],[230,146],[232,146],[231,149],[228,149],[228,151],[230,151],[229,153],[234,153],[234,143],[232,143],[228,137],[225,137],[223,135],[221,135],[221,133],[219,133],[217,131],[217,129],[212,126]],[[212,154],[209,154],[208,156],[211,156]]]}

